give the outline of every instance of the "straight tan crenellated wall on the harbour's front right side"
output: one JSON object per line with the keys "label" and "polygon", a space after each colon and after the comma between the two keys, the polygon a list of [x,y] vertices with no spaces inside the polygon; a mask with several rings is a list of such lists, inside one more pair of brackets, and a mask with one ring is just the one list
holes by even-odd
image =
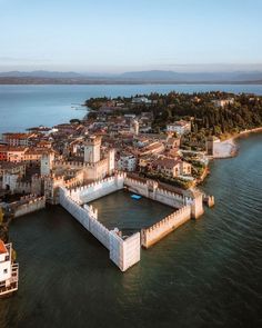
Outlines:
{"label": "straight tan crenellated wall on the harbour's front right side", "polygon": [[149,248],[191,218],[191,207],[184,206],[155,225],[141,230],[141,245]]}

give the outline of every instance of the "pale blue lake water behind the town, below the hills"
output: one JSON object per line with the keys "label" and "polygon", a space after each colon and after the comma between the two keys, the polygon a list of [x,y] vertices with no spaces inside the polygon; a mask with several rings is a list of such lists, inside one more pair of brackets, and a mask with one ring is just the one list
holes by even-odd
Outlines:
{"label": "pale blue lake water behind the town, below the hills", "polygon": [[142,85],[142,86],[0,86],[0,133],[23,131],[33,126],[53,126],[71,118],[82,118],[85,110],[75,110],[90,97],[132,96],[175,90],[194,92],[223,90],[262,95],[262,86],[229,85]]}

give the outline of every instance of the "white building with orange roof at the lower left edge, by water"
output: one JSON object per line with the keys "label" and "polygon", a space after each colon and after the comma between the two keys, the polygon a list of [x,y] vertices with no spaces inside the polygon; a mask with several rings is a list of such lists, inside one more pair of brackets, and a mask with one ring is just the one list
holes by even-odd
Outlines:
{"label": "white building with orange roof at the lower left edge, by water", "polygon": [[18,290],[18,264],[12,261],[12,245],[0,239],[0,297]]}

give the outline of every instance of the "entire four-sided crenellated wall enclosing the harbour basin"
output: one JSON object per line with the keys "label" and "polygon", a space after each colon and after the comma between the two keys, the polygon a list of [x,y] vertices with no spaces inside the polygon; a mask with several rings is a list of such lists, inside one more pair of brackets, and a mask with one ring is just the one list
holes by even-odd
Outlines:
{"label": "entire four-sided crenellated wall enclosing the harbour basin", "polygon": [[[190,218],[198,218],[203,213],[203,195],[196,189],[175,193],[159,188],[157,181],[148,180],[143,182],[139,179],[129,178],[125,173],[115,173],[107,179],[81,187],[75,187],[74,182],[72,179],[68,182],[68,186],[66,185],[68,188],[59,187],[61,206],[109,249],[110,259],[122,271],[140,260],[140,241],[143,247],[149,248]],[[177,210],[152,227],[142,229],[141,240],[139,232],[129,238],[122,238],[117,228],[110,231],[99,222],[97,210],[85,203],[124,187],[128,187],[132,192],[169,205]]]}

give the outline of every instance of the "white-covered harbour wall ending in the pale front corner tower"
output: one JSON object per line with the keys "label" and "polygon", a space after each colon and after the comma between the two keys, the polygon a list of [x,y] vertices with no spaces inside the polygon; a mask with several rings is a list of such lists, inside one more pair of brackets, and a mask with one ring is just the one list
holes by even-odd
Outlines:
{"label": "white-covered harbour wall ending in the pale front corner tower", "polygon": [[122,239],[118,229],[109,230],[98,220],[98,211],[71,198],[70,190],[60,187],[60,205],[67,209],[110,252],[110,259],[125,271],[140,261],[140,233]]}

